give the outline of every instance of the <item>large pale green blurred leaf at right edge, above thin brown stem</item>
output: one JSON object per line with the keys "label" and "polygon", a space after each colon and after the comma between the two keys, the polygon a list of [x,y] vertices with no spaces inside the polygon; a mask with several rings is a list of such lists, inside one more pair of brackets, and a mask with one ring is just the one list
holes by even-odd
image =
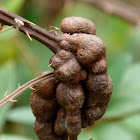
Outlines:
{"label": "large pale green blurred leaf at right edge, above thin brown stem", "polygon": [[131,65],[125,72],[117,95],[112,99],[105,117],[117,117],[140,110],[140,64]]}

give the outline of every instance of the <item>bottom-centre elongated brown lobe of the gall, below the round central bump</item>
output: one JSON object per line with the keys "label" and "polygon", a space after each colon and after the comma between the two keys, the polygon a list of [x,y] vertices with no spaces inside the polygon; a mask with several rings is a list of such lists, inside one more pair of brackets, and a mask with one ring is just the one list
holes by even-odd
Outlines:
{"label": "bottom-centre elongated brown lobe of the gall, below the round central bump", "polygon": [[73,109],[66,112],[67,133],[77,136],[81,132],[81,110]]}

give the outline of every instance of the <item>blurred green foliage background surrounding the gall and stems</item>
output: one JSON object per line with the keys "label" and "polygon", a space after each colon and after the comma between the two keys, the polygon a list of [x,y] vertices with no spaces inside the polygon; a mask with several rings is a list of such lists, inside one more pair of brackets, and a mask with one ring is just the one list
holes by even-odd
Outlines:
{"label": "blurred green foliage background surrounding the gall and stems", "polygon": [[[92,20],[97,36],[107,46],[114,91],[104,117],[81,132],[78,140],[140,139],[140,30],[126,21],[108,15],[93,6],[65,0],[0,0],[0,6],[40,25],[60,28],[67,16]],[[6,28],[6,27],[5,27]],[[52,52],[24,34],[12,29],[0,34],[0,99],[36,77],[48,67]],[[0,140],[38,140],[34,116],[29,105],[31,90],[19,96],[18,102],[0,108]]]}

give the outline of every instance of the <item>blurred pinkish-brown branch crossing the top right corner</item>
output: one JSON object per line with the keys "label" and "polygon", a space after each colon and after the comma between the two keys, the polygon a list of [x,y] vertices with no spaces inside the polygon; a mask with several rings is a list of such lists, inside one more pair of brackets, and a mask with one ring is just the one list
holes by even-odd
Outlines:
{"label": "blurred pinkish-brown branch crossing the top right corner", "polygon": [[132,25],[140,27],[140,12],[135,8],[122,3],[121,1],[110,0],[79,0],[81,2],[89,3],[106,13],[119,16],[128,21]]}

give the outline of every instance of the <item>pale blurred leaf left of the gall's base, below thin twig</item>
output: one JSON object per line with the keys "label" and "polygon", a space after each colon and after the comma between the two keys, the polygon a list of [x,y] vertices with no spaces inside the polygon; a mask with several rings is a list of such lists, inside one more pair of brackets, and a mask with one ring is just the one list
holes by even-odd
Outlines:
{"label": "pale blurred leaf left of the gall's base, below thin twig", "polygon": [[33,125],[35,117],[30,107],[18,107],[8,112],[7,120],[17,123]]}

